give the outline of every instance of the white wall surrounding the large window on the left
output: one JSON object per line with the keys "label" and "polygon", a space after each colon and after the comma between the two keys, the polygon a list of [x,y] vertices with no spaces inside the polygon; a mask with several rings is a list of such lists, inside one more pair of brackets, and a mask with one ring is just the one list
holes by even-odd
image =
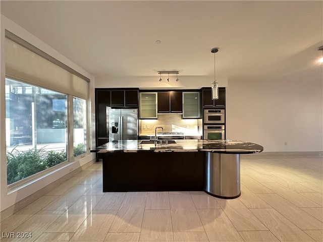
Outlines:
{"label": "white wall surrounding the large window on the left", "polygon": [[[44,52],[48,53],[49,55],[57,58],[62,63],[66,64],[67,66],[71,67],[75,71],[81,73],[82,75],[88,77],[90,82],[90,101],[88,102],[88,112],[90,116],[94,116],[94,77],[87,73],[86,71],[82,70],[80,67],[72,63],[69,59],[63,56],[61,53],[57,52],[56,50],[52,49],[50,46],[39,40],[37,37],[33,36],[31,33],[27,32],[19,25],[15,24],[8,18],[1,15],[1,36],[0,36],[0,53],[1,53],[1,61],[0,61],[0,210],[3,211],[4,209],[14,205],[15,203],[21,201],[22,199],[28,197],[29,195],[39,191],[40,189],[46,187],[47,185],[51,184],[53,181],[63,177],[64,175],[68,174],[69,172],[79,168],[80,166],[90,162],[95,158],[93,153],[87,153],[87,155],[79,160],[70,161],[64,167],[61,167],[59,170],[55,172],[51,172],[46,175],[39,176],[38,180],[31,181],[28,185],[21,186],[15,188],[15,190],[9,190],[7,187],[7,159],[6,159],[6,107],[5,107],[5,29],[9,30],[10,32],[16,34],[17,36],[21,37],[22,39],[26,40],[27,42],[31,43],[32,45],[36,46],[37,48],[43,50]],[[90,144],[92,140],[94,140],[94,123],[88,122],[88,133],[92,134],[93,137],[88,137],[88,143]],[[49,169],[50,170],[50,169]],[[53,171],[53,170],[51,170]]]}

